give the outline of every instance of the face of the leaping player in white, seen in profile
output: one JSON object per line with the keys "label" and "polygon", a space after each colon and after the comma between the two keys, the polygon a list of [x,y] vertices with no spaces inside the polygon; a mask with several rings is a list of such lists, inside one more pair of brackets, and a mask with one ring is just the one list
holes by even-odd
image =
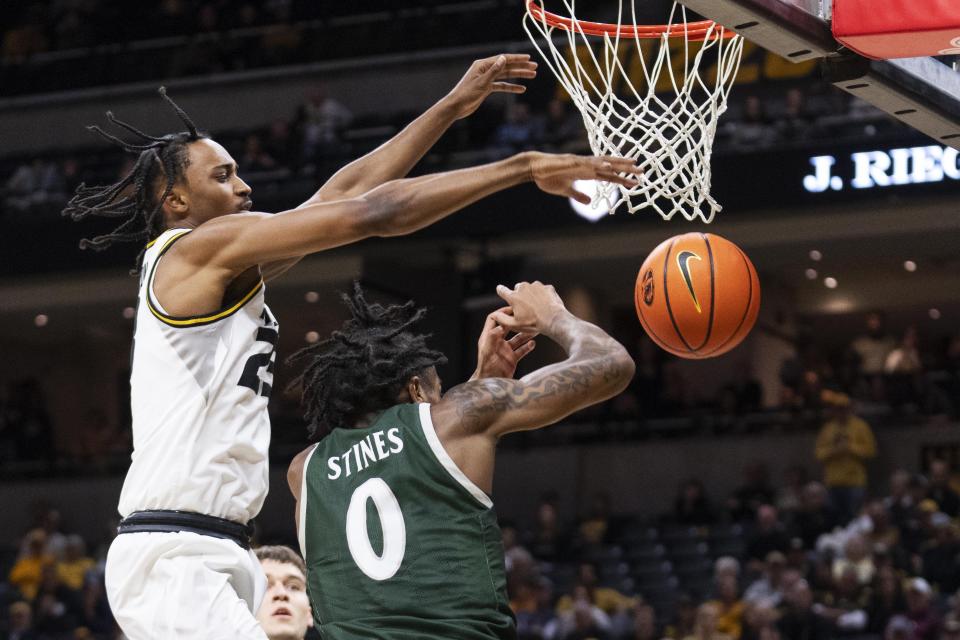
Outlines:
{"label": "face of the leaping player in white, seen in profile", "polygon": [[220,144],[202,139],[190,144],[187,193],[190,217],[197,223],[249,211],[250,186],[237,175],[237,163]]}

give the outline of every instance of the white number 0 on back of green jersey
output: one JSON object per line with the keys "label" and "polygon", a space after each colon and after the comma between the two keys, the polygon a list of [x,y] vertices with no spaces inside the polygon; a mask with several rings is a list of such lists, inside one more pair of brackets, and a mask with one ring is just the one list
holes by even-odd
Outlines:
{"label": "white number 0 on back of green jersey", "polygon": [[[367,500],[373,500],[383,531],[383,550],[377,555],[367,532]],[[372,580],[392,578],[407,549],[407,527],[397,497],[381,478],[370,478],[356,488],[347,507],[347,546],[350,555]]]}

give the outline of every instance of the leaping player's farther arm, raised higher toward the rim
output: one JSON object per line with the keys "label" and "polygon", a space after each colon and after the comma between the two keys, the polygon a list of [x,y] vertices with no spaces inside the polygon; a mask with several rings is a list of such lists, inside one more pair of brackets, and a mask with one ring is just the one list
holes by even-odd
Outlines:
{"label": "leaping player's farther arm, raised higher toward the rim", "polygon": [[[385,182],[403,178],[450,125],[476,111],[491,93],[526,91],[522,85],[506,80],[534,78],[536,68],[537,63],[532,62],[527,54],[506,54],[475,61],[450,93],[393,138],[333,174],[298,208],[355,198]],[[285,273],[301,257],[262,265],[264,279],[271,280]]]}

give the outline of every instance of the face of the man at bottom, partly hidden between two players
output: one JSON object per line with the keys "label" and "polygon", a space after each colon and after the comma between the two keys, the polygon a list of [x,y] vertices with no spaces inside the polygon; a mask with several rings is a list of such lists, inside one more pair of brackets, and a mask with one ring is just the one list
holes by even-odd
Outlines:
{"label": "face of the man at bottom, partly hidden between two players", "polygon": [[267,594],[257,611],[264,633],[270,640],[303,640],[313,626],[304,575],[288,562],[261,560],[260,565],[267,576]]}

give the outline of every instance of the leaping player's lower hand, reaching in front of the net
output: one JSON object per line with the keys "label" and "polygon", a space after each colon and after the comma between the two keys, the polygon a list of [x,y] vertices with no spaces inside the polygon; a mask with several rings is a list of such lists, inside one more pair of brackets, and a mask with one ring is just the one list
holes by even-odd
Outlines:
{"label": "leaping player's lower hand, reaching in front of the net", "polygon": [[574,180],[600,180],[630,188],[639,184],[637,178],[621,174],[639,175],[642,171],[633,160],[614,156],[533,152],[530,158],[530,174],[541,190],[583,204],[590,204],[590,196],[574,189]]}

